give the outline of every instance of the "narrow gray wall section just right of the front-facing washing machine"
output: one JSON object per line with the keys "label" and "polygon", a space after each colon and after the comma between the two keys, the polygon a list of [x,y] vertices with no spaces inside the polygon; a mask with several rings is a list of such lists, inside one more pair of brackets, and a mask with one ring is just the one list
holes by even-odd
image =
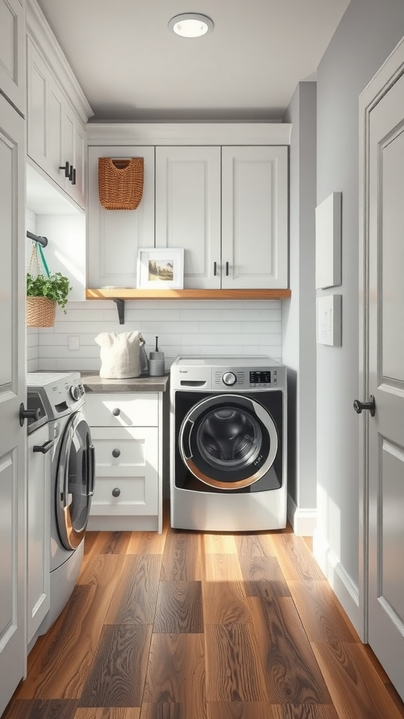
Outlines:
{"label": "narrow gray wall section just right of the front-facing washing machine", "polygon": [[[283,301],[288,367],[288,516],[311,533],[316,516],[316,83],[299,83],[283,122],[290,138],[290,301]],[[311,524],[311,526],[310,526]],[[306,528],[306,531],[305,531]]]}

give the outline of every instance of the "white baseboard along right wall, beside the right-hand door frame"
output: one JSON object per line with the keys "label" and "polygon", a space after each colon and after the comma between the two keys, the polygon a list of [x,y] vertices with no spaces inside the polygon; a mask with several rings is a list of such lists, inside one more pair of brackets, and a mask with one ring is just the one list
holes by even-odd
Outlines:
{"label": "white baseboard along right wall, beside the right-hand door frame", "polygon": [[320,533],[318,528],[313,533],[313,557],[316,559],[326,579],[334,590],[339,603],[352,621],[354,628],[359,633],[359,637],[363,641],[360,634],[362,625],[362,617],[359,609],[359,590],[349,574],[346,573],[338,557],[331,549],[326,537]]}

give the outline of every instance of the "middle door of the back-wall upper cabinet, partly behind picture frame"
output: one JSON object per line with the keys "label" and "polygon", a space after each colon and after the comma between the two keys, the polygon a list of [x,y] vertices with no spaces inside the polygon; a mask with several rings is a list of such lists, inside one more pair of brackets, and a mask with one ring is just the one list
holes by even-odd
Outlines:
{"label": "middle door of the back-wall upper cabinet, partly behind picture frame", "polygon": [[156,247],[185,248],[185,288],[220,287],[220,192],[220,147],[156,147]]}

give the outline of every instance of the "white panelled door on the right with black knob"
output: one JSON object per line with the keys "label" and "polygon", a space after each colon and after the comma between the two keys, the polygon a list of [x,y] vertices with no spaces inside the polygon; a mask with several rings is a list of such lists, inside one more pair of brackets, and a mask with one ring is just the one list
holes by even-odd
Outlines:
{"label": "white panelled door on the right with black knob", "polygon": [[368,641],[404,699],[404,75],[385,89],[367,130]]}

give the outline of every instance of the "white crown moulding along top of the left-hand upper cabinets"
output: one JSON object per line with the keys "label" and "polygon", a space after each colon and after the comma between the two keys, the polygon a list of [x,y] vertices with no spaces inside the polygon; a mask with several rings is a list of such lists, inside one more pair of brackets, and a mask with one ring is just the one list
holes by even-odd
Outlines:
{"label": "white crown moulding along top of the left-hand upper cabinets", "polygon": [[27,0],[27,35],[55,75],[58,85],[78,113],[81,122],[86,124],[88,118],[93,116],[93,110],[37,0]]}

